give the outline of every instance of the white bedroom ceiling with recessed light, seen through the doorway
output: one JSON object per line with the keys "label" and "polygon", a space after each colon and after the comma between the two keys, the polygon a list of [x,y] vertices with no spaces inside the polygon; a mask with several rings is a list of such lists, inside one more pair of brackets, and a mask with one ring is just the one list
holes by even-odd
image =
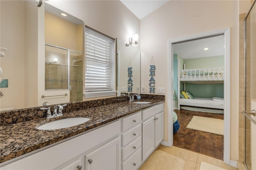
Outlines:
{"label": "white bedroom ceiling with recessed light, seen through the doorway", "polygon": [[173,51],[183,59],[224,55],[224,35],[175,43]]}

